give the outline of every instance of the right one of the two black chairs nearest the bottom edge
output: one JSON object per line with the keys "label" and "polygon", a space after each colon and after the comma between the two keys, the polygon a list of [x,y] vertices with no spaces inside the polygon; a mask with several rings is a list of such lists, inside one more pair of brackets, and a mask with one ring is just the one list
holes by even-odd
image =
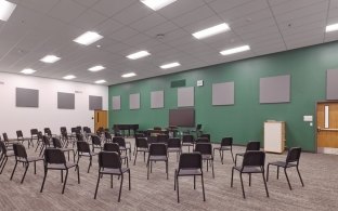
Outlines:
{"label": "right one of the two black chairs nearest the bottom edge", "polygon": [[174,190],[177,189],[178,202],[180,202],[179,176],[194,176],[194,189],[196,189],[196,176],[197,175],[202,177],[203,200],[206,201],[200,153],[196,151],[196,153],[181,154],[179,169],[174,170],[174,180],[173,180],[174,181],[173,189]]}

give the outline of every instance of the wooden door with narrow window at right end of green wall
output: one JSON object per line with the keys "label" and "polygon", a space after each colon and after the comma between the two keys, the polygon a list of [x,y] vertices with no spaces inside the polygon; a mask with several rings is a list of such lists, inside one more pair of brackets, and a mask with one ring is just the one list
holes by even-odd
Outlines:
{"label": "wooden door with narrow window at right end of green wall", "polygon": [[317,153],[338,154],[338,102],[317,103]]}

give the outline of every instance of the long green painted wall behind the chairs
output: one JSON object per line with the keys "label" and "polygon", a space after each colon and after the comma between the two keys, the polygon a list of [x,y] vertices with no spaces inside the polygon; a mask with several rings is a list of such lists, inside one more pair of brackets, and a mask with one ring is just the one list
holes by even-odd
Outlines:
{"label": "long green painted wall behind the chairs", "polygon": [[[232,135],[235,144],[263,141],[266,119],[286,121],[287,146],[315,150],[315,123],[303,122],[304,115],[315,117],[315,104],[325,100],[326,69],[338,68],[338,42],[231,62],[188,71],[166,75],[109,87],[109,127],[114,123],[139,123],[141,129],[168,126],[168,110],[177,107],[173,80],[185,79],[195,87],[196,123],[202,123],[213,142]],[[184,61],[183,61],[184,62]],[[183,63],[184,65],[184,63]],[[260,104],[259,80],[262,77],[291,75],[291,102]],[[203,79],[204,87],[196,87]],[[235,105],[212,106],[211,85],[235,81]],[[165,90],[165,108],[151,109],[151,92]],[[129,110],[129,94],[141,93],[141,109]],[[112,110],[112,96],[121,95],[121,110]]]}

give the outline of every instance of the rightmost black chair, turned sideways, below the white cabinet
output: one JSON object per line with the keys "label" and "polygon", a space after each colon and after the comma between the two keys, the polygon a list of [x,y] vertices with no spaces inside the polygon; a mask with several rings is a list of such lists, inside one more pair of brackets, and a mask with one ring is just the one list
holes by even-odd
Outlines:
{"label": "rightmost black chair, turned sideways, below the white cabinet", "polygon": [[278,179],[280,167],[281,167],[281,168],[284,169],[285,177],[287,180],[289,188],[292,189],[290,181],[289,181],[288,175],[286,173],[286,169],[287,168],[291,168],[291,167],[296,167],[296,170],[297,170],[298,176],[300,179],[301,185],[304,186],[304,183],[303,183],[303,181],[301,179],[301,175],[300,175],[300,172],[299,172],[299,169],[298,169],[300,154],[301,154],[301,148],[300,147],[292,147],[292,148],[290,148],[288,150],[285,161],[269,162],[268,171],[266,171],[266,182],[269,180],[269,167],[270,167],[270,164],[277,167],[277,179]]}

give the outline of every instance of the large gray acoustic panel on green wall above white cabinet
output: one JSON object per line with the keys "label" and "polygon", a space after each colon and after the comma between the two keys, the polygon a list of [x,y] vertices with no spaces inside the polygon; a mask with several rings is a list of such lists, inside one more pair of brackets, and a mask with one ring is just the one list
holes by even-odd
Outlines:
{"label": "large gray acoustic panel on green wall above white cabinet", "polygon": [[260,79],[260,103],[290,102],[290,75]]}

